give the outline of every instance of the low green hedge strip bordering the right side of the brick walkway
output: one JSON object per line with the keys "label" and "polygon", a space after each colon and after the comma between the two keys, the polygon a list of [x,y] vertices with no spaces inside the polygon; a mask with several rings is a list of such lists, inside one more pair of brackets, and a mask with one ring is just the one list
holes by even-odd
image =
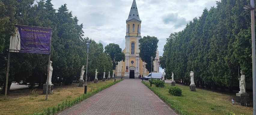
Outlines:
{"label": "low green hedge strip bordering the right side of the brick walkway", "polygon": [[161,94],[160,92],[158,92],[157,89],[150,87],[150,85],[144,81],[142,81],[142,83],[145,84],[145,86],[147,86],[151,91],[153,91],[160,99],[162,99],[166,104],[169,105],[169,107],[174,109],[177,113],[179,113],[181,115],[190,115],[190,113],[187,110],[184,110],[179,105],[176,105],[174,101],[172,101],[168,97],[166,97],[163,94]]}

